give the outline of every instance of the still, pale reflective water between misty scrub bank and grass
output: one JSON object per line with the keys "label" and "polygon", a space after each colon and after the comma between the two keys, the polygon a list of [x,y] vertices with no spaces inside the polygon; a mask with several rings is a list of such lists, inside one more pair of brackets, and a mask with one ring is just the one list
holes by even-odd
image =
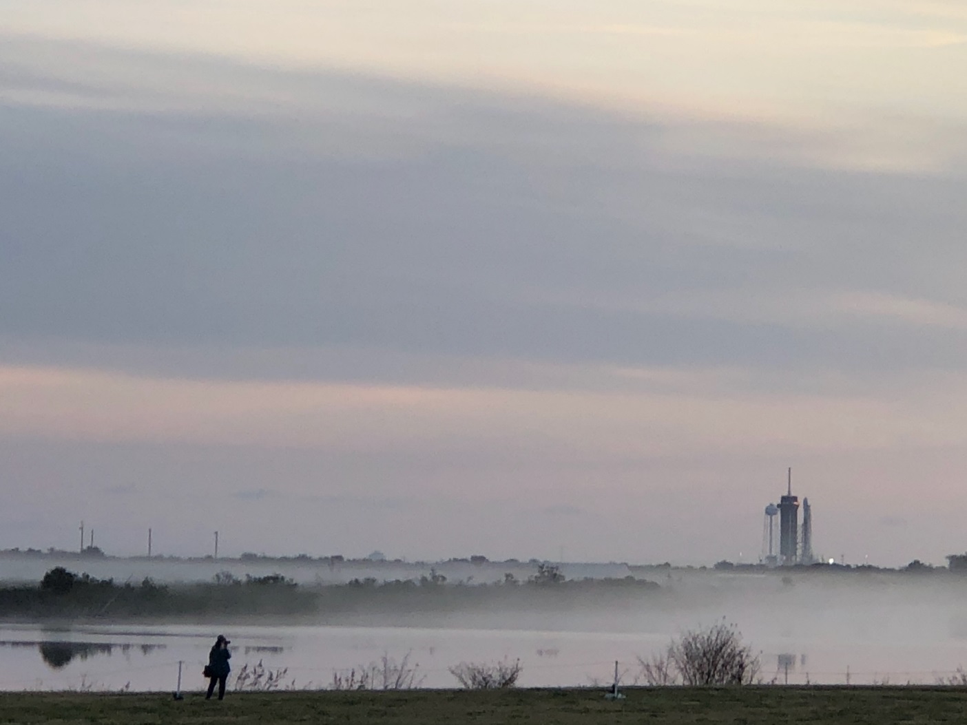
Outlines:
{"label": "still, pale reflective water between misty scrub bank and grass", "polygon": [[[0,688],[173,690],[178,661],[183,688],[199,689],[201,668],[218,632],[196,626],[79,626],[48,629],[0,627]],[[447,668],[461,660],[519,658],[522,685],[587,685],[606,682],[614,661],[629,670],[636,654],[657,651],[664,634],[411,627],[273,626],[235,627],[232,664],[262,660],[288,668],[297,687],[325,687],[334,670],[377,661],[384,653],[410,662],[427,687],[454,686]],[[767,680],[854,683],[932,683],[967,662],[962,641],[894,643],[803,642],[795,637],[756,642]]]}

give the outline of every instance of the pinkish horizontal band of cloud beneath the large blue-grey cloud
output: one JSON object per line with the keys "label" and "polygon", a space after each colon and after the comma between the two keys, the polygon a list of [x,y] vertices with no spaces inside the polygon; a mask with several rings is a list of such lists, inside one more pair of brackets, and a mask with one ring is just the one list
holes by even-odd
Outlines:
{"label": "pinkish horizontal band of cloud beneath the large blue-grey cloud", "polygon": [[[593,468],[776,447],[819,453],[954,446],[967,436],[951,402],[967,396],[962,376],[876,396],[636,384],[611,391],[442,389],[0,367],[0,433],[385,455],[411,471],[473,462],[493,471],[549,461]],[[490,460],[493,451],[499,454]]]}

